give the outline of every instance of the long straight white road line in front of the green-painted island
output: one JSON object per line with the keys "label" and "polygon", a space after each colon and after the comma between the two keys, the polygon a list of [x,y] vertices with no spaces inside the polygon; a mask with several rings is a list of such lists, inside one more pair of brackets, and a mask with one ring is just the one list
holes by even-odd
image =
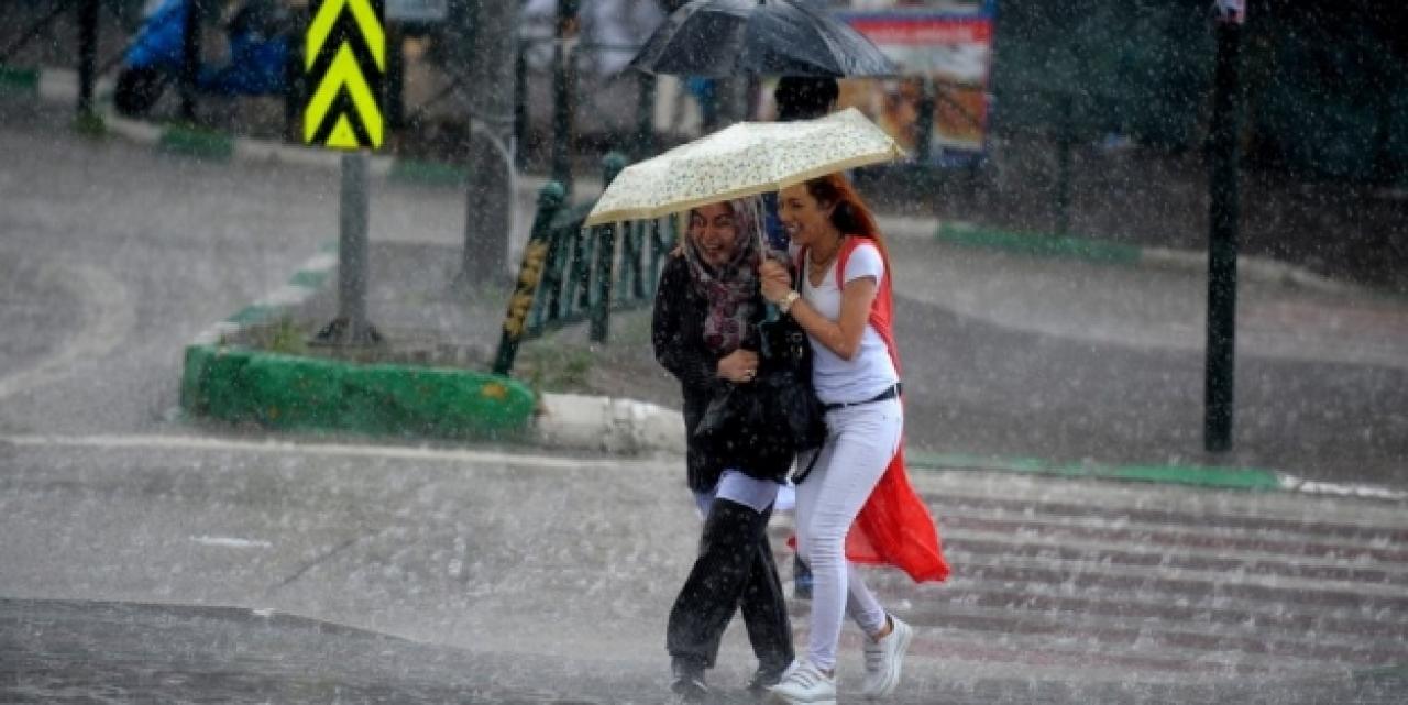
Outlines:
{"label": "long straight white road line in front of the green-painted island", "polygon": [[621,467],[646,467],[650,460],[642,459],[579,459],[513,453],[500,450],[436,449],[408,446],[362,446],[351,443],[300,443],[291,440],[232,440],[221,438],[165,436],[165,435],[93,435],[93,436],[45,436],[18,435],[0,436],[0,442],[23,447],[106,447],[106,449],[148,449],[148,450],[222,450],[246,453],[301,453],[324,457],[382,457],[403,460],[431,460],[446,463],[505,463],[517,466],[615,470]]}

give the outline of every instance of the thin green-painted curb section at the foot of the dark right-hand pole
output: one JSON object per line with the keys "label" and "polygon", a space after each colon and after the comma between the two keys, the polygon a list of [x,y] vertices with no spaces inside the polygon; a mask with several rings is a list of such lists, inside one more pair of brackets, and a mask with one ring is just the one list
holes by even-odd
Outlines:
{"label": "thin green-painted curb section at the foot of the dark right-hand pole", "polygon": [[910,467],[922,470],[995,470],[1090,480],[1183,484],[1222,490],[1264,491],[1281,488],[1280,473],[1256,467],[1053,463],[1035,457],[990,457],[964,453],[918,452],[905,453],[905,459]]}

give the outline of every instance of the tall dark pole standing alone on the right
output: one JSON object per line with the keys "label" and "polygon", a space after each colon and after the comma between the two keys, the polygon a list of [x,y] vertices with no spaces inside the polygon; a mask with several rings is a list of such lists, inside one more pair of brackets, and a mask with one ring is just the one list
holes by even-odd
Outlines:
{"label": "tall dark pole standing alone on the right", "polygon": [[1208,452],[1232,447],[1236,360],[1238,121],[1243,0],[1217,3],[1217,69],[1208,135],[1208,342],[1202,443]]}

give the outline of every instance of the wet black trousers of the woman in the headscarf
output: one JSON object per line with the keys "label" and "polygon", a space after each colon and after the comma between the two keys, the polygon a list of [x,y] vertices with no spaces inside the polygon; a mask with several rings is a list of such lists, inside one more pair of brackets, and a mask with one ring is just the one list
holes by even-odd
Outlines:
{"label": "wet black trousers of the woman in the headscarf", "polygon": [[666,649],[676,663],[710,668],[735,609],[743,612],[748,640],[765,668],[781,670],[793,660],[791,619],[767,540],[772,508],[714,500],[700,554],[684,581],[666,629]]}

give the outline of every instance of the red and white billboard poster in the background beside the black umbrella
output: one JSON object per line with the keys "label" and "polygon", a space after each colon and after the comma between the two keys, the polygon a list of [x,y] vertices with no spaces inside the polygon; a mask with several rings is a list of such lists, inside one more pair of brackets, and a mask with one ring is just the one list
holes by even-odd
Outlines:
{"label": "red and white billboard poster in the background beside the black umbrella", "polygon": [[[997,0],[849,0],[832,7],[901,72],[894,79],[842,80],[841,107],[855,106],[915,156],[926,134],[934,163],[981,158],[991,108]],[[919,124],[925,82],[935,97],[928,129]]]}

